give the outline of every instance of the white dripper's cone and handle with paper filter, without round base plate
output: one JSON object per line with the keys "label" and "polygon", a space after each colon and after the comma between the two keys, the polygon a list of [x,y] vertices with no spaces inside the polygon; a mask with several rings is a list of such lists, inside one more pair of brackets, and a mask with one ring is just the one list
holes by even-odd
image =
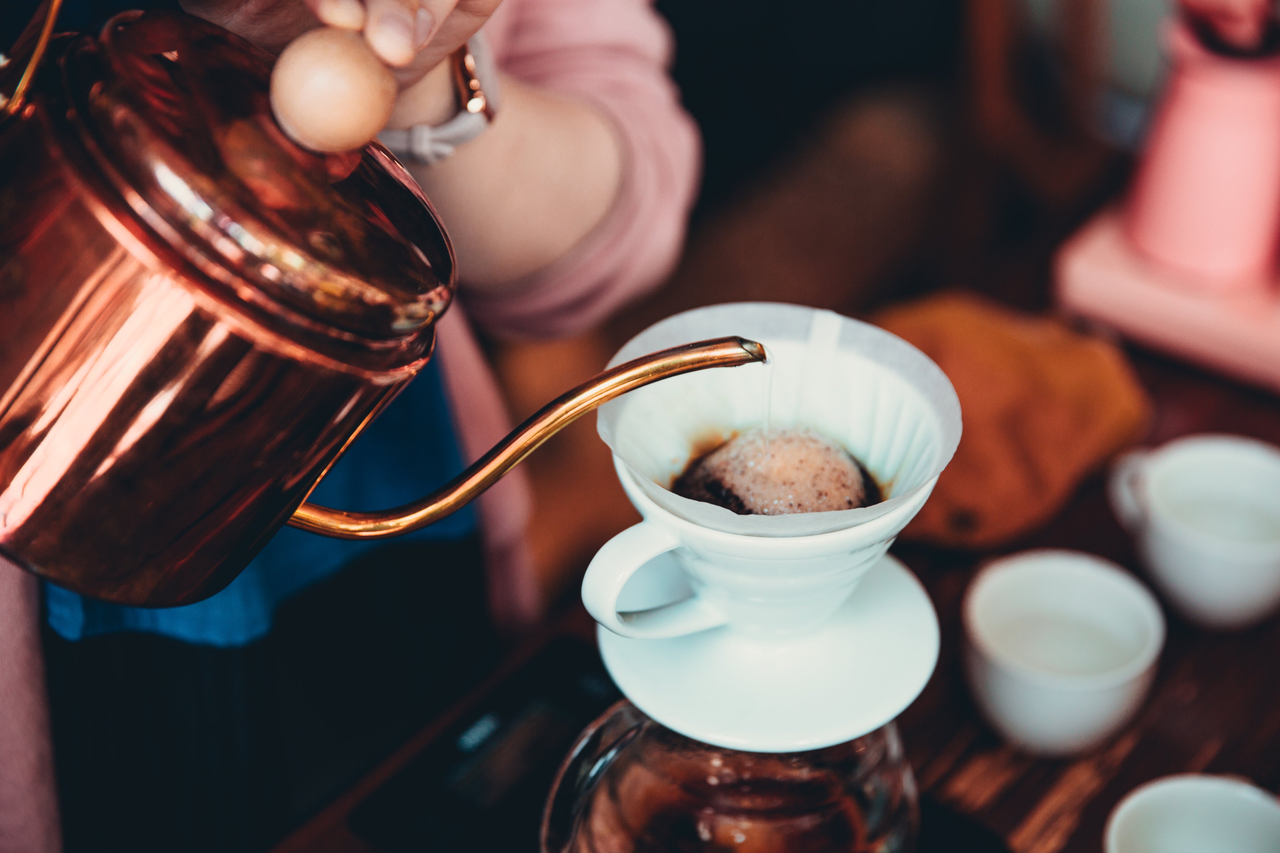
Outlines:
{"label": "white dripper's cone and handle with paper filter, without round base plate", "polygon": [[[716,625],[767,637],[818,628],[928,499],[960,440],[960,404],[918,349],[829,311],[773,303],[713,306],[671,317],[631,340],[631,352],[745,330],[769,362],[689,375],[600,408],[644,522],[611,540],[582,586],[588,610],[623,637],[675,637]],[[796,515],[736,515],[667,489],[695,448],[750,427],[805,426],[836,440],[881,483],[873,506]],[[675,551],[696,595],[618,613],[627,581]]]}

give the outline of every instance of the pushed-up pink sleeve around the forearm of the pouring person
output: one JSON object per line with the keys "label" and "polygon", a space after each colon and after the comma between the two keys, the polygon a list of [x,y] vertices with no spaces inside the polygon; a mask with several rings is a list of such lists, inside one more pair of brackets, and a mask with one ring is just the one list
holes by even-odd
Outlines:
{"label": "pushed-up pink sleeve around the forearm of the pouring person", "polygon": [[698,130],[667,77],[671,35],[648,0],[507,0],[490,24],[502,70],[613,121],[623,176],[611,212],[566,257],[500,293],[463,288],[462,298],[490,333],[575,334],[671,271],[698,183]]}

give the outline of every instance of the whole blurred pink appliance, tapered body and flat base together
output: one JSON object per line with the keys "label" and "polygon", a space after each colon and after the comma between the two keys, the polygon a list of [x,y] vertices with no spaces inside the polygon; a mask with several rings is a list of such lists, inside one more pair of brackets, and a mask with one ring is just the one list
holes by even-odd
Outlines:
{"label": "whole blurred pink appliance, tapered body and flat base together", "polygon": [[1167,32],[1170,78],[1129,198],[1059,251],[1057,301],[1280,391],[1280,56],[1213,52],[1185,20]]}

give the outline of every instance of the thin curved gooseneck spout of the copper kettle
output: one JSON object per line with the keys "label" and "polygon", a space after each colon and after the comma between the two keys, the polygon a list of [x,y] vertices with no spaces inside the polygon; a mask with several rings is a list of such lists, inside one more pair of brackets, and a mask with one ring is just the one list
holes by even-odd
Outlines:
{"label": "thin curved gooseneck spout of the copper kettle", "polygon": [[289,524],[311,533],[351,540],[411,533],[471,503],[553,434],[616,396],[680,373],[765,361],[764,347],[744,338],[717,338],[636,358],[548,403],[470,468],[421,500],[380,513],[351,513],[302,504]]}

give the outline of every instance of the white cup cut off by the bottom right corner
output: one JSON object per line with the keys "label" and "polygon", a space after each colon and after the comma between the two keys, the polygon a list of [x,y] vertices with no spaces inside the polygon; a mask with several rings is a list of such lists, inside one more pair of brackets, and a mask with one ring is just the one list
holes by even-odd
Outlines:
{"label": "white cup cut off by the bottom right corner", "polygon": [[1165,776],[1120,801],[1105,838],[1106,853],[1275,853],[1280,803],[1239,779]]}

